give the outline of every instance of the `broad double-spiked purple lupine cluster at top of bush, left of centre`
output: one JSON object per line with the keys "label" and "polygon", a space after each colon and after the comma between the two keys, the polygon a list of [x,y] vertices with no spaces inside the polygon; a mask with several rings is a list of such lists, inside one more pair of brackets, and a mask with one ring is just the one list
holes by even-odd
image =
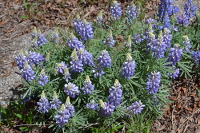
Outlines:
{"label": "broad double-spiked purple lupine cluster at top of bush, left of centre", "polygon": [[77,18],[74,19],[73,24],[76,33],[81,37],[82,41],[93,38],[92,26],[89,22]]}

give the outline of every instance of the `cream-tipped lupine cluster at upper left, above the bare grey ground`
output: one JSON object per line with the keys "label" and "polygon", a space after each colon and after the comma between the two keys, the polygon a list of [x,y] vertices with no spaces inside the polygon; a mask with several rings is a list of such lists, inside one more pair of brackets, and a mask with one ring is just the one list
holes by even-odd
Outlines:
{"label": "cream-tipped lupine cluster at upper left, above the bare grey ground", "polygon": [[32,35],[32,47],[42,46],[46,45],[47,39],[45,38],[44,34],[41,33],[40,30],[37,31],[36,28],[34,28],[34,31],[31,33]]}

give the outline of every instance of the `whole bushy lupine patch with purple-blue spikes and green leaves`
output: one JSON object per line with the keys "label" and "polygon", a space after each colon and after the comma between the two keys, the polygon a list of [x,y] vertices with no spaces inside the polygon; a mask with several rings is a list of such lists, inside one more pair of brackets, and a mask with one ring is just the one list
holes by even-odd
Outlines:
{"label": "whole bushy lupine patch with purple-blue spikes and green leaves", "polygon": [[[110,3],[93,22],[45,36],[34,28],[32,45],[15,58],[25,79],[19,100],[1,107],[2,125],[52,132],[146,132],[170,102],[177,77],[199,74],[200,18],[192,0],[184,12],[161,0],[158,15],[140,21],[140,6]],[[119,39],[120,38],[120,39]]]}

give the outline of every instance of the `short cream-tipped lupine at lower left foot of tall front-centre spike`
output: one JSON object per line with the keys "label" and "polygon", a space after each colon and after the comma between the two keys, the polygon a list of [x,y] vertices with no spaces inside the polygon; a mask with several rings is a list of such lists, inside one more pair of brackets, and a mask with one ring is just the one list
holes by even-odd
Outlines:
{"label": "short cream-tipped lupine at lower left foot of tall front-centre spike", "polygon": [[103,115],[105,117],[110,116],[114,110],[115,110],[115,106],[112,104],[109,104],[107,102],[103,102],[102,100],[100,100],[100,105],[101,105],[101,109],[100,109],[100,115]]}

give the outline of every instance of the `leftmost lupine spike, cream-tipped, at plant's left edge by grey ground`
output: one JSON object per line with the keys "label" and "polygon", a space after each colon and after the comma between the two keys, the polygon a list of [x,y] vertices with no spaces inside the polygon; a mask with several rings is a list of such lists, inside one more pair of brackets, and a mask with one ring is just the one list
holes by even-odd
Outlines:
{"label": "leftmost lupine spike, cream-tipped, at plant's left edge by grey ground", "polygon": [[20,50],[19,56],[15,57],[15,60],[20,70],[24,68],[25,62],[28,61],[22,50]]}

